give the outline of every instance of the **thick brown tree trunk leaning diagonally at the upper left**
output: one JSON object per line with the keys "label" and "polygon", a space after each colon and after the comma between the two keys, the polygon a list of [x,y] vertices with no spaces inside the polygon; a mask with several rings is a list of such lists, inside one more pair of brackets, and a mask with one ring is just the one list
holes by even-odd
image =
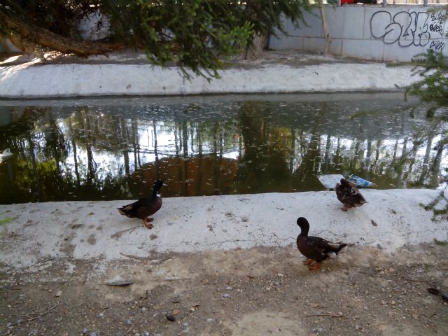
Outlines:
{"label": "thick brown tree trunk leaning diagonally at the upper left", "polygon": [[13,31],[10,38],[11,42],[25,52],[30,52],[31,45],[43,45],[66,54],[75,53],[79,56],[88,56],[105,54],[106,52],[125,47],[122,43],[75,41],[55,34],[48,29],[37,27],[32,23],[24,22],[1,9],[0,21],[3,22],[2,25],[4,27]]}

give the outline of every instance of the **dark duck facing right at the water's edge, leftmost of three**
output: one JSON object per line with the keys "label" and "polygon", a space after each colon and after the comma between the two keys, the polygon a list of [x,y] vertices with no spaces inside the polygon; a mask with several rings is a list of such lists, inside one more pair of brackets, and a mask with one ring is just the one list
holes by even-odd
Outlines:
{"label": "dark duck facing right at the water's edge, leftmost of three", "polygon": [[153,197],[141,198],[137,202],[118,208],[118,211],[120,214],[130,218],[140,218],[146,228],[152,229],[154,225],[148,222],[154,221],[154,218],[148,217],[155,214],[162,207],[162,196],[160,195],[160,188],[162,188],[162,186],[162,180],[155,181]]}

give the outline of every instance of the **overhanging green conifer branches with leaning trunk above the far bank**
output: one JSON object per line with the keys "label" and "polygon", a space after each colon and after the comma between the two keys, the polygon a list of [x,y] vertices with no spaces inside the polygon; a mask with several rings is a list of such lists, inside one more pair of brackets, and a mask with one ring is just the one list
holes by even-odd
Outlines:
{"label": "overhanging green conifer branches with leaning trunk above the far bank", "polygon": [[[281,15],[298,25],[309,8],[308,0],[0,0],[0,37],[22,50],[38,45],[78,56],[137,48],[154,64],[174,62],[211,78],[254,34],[284,31]],[[95,13],[109,34],[83,40],[79,22]]]}

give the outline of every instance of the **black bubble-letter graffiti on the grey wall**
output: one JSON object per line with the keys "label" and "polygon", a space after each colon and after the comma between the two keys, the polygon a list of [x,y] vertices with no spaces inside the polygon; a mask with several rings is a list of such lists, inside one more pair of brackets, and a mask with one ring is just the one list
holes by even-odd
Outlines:
{"label": "black bubble-letter graffiti on the grey wall", "polygon": [[398,12],[395,15],[379,10],[370,18],[370,34],[386,44],[398,43],[401,47],[421,46],[442,51],[444,41],[444,18],[446,11]]}

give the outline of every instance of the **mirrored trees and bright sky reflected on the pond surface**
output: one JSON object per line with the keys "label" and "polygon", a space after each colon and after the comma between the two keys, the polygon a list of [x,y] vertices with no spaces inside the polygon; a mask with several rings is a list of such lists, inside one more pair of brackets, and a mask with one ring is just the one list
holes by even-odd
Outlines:
{"label": "mirrored trees and bright sky reflected on the pond surface", "polygon": [[0,165],[0,188],[12,190],[0,202],[137,198],[158,178],[167,181],[164,196],[322,190],[318,174],[357,174],[379,188],[439,183],[439,131],[412,138],[402,121],[393,137],[360,126],[358,135],[344,136],[339,124],[329,127],[325,102],[312,106],[312,120],[294,111],[307,125],[294,113],[286,123],[273,106],[243,102],[237,118],[181,111],[158,119],[27,107],[18,123],[0,127],[0,149],[15,153]]}

